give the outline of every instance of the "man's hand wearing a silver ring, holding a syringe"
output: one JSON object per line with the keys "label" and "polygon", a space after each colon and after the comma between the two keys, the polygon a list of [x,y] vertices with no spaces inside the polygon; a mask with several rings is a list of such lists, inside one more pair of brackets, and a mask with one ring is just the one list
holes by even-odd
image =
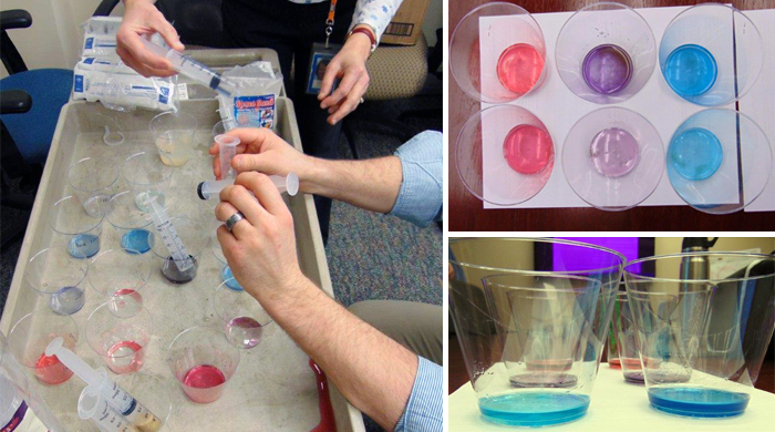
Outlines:
{"label": "man's hand wearing a silver ring, holding a syringe", "polygon": [[218,227],[218,243],[237,281],[262,306],[270,307],[303,286],[293,218],[277,187],[260,173],[242,173],[220,192],[215,208],[218,220],[226,222],[237,212],[245,218],[231,232],[224,225]]}

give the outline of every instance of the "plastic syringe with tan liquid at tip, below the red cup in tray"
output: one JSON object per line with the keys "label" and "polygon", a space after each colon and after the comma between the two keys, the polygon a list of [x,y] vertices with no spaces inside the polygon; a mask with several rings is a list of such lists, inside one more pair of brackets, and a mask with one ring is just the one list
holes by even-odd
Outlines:
{"label": "plastic syringe with tan liquid at tip, below the red cup in tray", "polygon": [[[73,351],[63,347],[63,343],[64,339],[62,338],[52,340],[49,346],[45,347],[45,354],[56,356],[68,369],[86,382],[86,388],[92,388],[96,391],[117,413],[132,422],[135,429],[128,429],[130,431],[140,430],[142,432],[156,432],[162,429],[162,420],[148,411],[148,409],[133,398],[132,394],[127,393],[126,390],[107,379],[105,369],[92,369],[92,367]],[[80,403],[81,401],[79,400],[79,408]]]}

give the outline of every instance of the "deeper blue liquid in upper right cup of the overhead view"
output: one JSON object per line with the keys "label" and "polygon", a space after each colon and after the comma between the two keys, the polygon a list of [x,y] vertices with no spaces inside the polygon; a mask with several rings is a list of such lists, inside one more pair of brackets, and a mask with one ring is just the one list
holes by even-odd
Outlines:
{"label": "deeper blue liquid in upper right cup of the overhead view", "polygon": [[664,80],[675,93],[683,97],[706,93],[716,82],[719,66],[710,51],[685,44],[676,48],[664,62]]}

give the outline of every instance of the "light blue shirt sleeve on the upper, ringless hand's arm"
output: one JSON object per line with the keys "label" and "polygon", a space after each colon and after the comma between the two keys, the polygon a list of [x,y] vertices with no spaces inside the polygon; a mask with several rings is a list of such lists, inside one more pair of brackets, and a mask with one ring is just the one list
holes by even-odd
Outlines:
{"label": "light blue shirt sleeve on the upper, ringless hand's arm", "polygon": [[424,227],[438,220],[443,205],[443,153],[441,132],[425,131],[395,152],[403,181],[390,214]]}

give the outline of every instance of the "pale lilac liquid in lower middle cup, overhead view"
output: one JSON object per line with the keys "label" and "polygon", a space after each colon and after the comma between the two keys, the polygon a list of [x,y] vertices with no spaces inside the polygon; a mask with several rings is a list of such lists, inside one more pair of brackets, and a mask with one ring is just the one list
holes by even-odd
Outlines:
{"label": "pale lilac liquid in lower middle cup, overhead view", "polygon": [[606,177],[621,177],[638,165],[638,141],[618,127],[602,130],[589,145],[589,158],[598,173]]}

